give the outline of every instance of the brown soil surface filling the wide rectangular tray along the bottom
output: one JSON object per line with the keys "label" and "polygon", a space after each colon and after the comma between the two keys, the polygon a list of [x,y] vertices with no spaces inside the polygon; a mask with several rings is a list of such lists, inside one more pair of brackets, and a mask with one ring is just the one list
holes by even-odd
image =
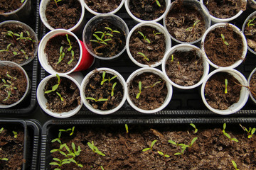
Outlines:
{"label": "brown soil surface filling the wide rectangular tray along the bottom", "polygon": [[[75,161],[82,164],[79,168],[75,163],[64,164],[61,169],[234,169],[231,160],[238,164],[239,169],[256,168],[256,137],[253,135],[247,138],[239,125],[227,125],[225,132],[239,142],[230,141],[223,135],[222,125],[204,127],[198,125],[198,132],[189,125],[158,125],[141,126],[128,125],[127,134],[124,125],[95,126],[83,125],[76,127],[74,135],[62,133],[60,140],[72,149],[71,143],[74,142],[76,149],[80,146],[81,152]],[[211,125],[213,126],[213,125]],[[63,128],[63,127],[61,127]],[[72,128],[72,127],[67,127]],[[249,127],[246,127],[249,129]],[[235,130],[234,130],[235,129]],[[58,129],[55,130],[55,137],[58,137]],[[234,131],[230,131],[234,130]],[[182,155],[174,155],[181,152],[181,146],[172,145],[169,140],[178,144],[190,145],[191,140],[198,137],[192,147],[187,147]],[[146,152],[142,149],[150,148],[151,142],[157,140]],[[105,154],[96,154],[88,147],[87,142],[94,143],[95,147]],[[58,149],[60,144],[53,142],[50,149]],[[63,152],[68,154],[63,147]],[[162,152],[164,157],[158,152]],[[50,154],[50,150],[48,150]],[[53,152],[52,157],[65,159],[59,152]],[[50,162],[55,162],[52,159]],[[47,162],[46,164],[48,164]],[[58,166],[51,166],[51,169]]]}

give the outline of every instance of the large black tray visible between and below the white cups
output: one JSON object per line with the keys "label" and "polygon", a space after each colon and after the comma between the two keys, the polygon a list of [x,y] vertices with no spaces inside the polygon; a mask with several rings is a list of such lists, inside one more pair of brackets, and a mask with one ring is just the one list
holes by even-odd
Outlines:
{"label": "large black tray visible between and below the white cups", "polygon": [[[233,23],[235,26],[238,26],[238,28],[242,29],[242,24],[247,18],[247,16],[252,13],[253,10],[248,8],[246,11],[242,13],[240,17],[235,19],[234,21],[231,21],[230,23]],[[129,27],[129,30],[131,30],[137,22],[134,21],[126,12],[124,6],[116,13],[117,16],[120,16]],[[86,21],[89,21],[90,18],[93,17],[93,15],[86,11],[85,13]],[[160,21],[159,23],[163,24],[163,21]],[[48,29],[43,28],[43,35],[45,35],[48,32]],[[82,40],[82,33],[78,35],[78,38]],[[176,42],[174,40],[171,41],[171,47],[176,45]],[[197,44],[200,47],[200,43]],[[117,57],[115,60],[98,60],[95,59],[95,64],[92,65],[90,69],[87,69],[82,72],[82,74],[85,76],[88,72],[92,71],[92,69],[100,68],[100,67],[110,67],[124,77],[124,79],[127,79],[129,75],[134,72],[136,69],[139,69],[139,67],[134,64],[128,57],[127,52],[124,51],[124,53]],[[242,72],[244,74],[245,78],[247,79],[250,75],[250,72],[252,72],[252,69],[256,67],[256,56],[253,55],[249,50],[247,51],[247,56],[245,58],[245,61],[240,64],[238,71]],[[160,67],[156,67],[161,70]],[[213,71],[213,67],[210,67],[210,72]],[[41,68],[41,79],[46,77],[48,73]],[[168,116],[172,118],[180,118],[180,117],[218,117],[218,118],[227,118],[227,116],[223,115],[217,115],[206,108],[206,106],[203,104],[203,101],[201,99],[200,94],[201,86],[199,86],[196,89],[181,91],[174,88],[174,94],[171,98],[171,101],[166,108],[164,108],[163,111],[159,111],[158,113],[153,113],[150,115],[147,115],[149,117],[158,115],[159,117]],[[124,116],[134,116],[134,117],[141,117],[144,113],[139,113],[135,111],[127,101],[124,103],[124,106],[117,111],[116,113],[112,113],[110,115],[105,115],[105,118],[108,117],[124,117]],[[242,108],[242,110],[238,111],[237,113],[234,113],[233,115],[230,115],[231,117],[242,117],[242,116],[250,116],[255,117],[256,115],[256,106],[250,102],[250,98],[248,99],[246,105]],[[74,115],[75,117],[102,117],[102,115],[97,115],[95,113],[90,112],[85,106],[82,106],[82,109],[79,111],[77,115]],[[230,118],[230,116],[228,118]]]}

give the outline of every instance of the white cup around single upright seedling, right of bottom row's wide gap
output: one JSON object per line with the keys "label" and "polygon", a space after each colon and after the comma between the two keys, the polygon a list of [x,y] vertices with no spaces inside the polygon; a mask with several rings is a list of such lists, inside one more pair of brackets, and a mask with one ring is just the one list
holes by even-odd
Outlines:
{"label": "white cup around single upright seedling, right of bottom row's wide gap", "polygon": [[[205,93],[204,93],[204,89],[206,86],[206,82],[208,81],[208,79],[210,79],[211,76],[213,76],[213,74],[216,74],[218,72],[227,72],[228,74],[231,74],[233,77],[235,77],[235,79],[237,79],[239,81],[239,83],[242,85],[242,89],[240,91],[240,98],[238,103],[233,103],[233,105],[231,105],[228,109],[226,110],[220,110],[220,109],[215,109],[212,108],[206,101],[206,97],[205,97]],[[206,107],[210,110],[213,111],[213,113],[217,113],[220,115],[230,115],[232,113],[235,113],[237,111],[239,111],[243,106],[245,106],[245,103],[247,102],[247,99],[249,97],[249,90],[247,88],[248,83],[247,80],[245,79],[245,77],[238,72],[235,69],[230,69],[230,68],[220,68],[220,69],[215,69],[213,72],[211,72],[205,79],[205,81],[203,81],[202,87],[201,87],[201,98],[203,100],[203,103],[206,105]]]}

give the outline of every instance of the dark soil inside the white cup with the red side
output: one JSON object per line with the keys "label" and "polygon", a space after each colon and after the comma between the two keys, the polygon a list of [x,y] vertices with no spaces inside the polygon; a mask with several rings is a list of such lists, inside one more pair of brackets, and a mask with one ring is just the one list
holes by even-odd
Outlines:
{"label": "dark soil inside the white cup with the red side", "polygon": [[[55,35],[53,38],[50,38],[46,44],[45,52],[47,54],[48,64],[56,71],[56,72],[69,72],[71,69],[78,64],[80,58],[80,47],[78,41],[72,36],[68,35],[68,39],[70,40],[72,49],[70,51],[70,44],[67,39],[68,34],[63,35]],[[63,47],[63,52],[65,53],[63,60],[60,60],[60,48]],[[74,52],[74,57],[72,55],[72,51]],[[70,62],[70,60],[73,60]],[[69,63],[70,62],[70,63]]]}

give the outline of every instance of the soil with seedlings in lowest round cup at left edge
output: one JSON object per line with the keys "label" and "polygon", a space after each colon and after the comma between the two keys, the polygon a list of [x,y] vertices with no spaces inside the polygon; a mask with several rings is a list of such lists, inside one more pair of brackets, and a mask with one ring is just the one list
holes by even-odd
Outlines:
{"label": "soil with seedlings in lowest round cup at left edge", "polygon": [[18,67],[4,65],[0,69],[0,102],[10,105],[19,101],[26,92],[26,76]]}

